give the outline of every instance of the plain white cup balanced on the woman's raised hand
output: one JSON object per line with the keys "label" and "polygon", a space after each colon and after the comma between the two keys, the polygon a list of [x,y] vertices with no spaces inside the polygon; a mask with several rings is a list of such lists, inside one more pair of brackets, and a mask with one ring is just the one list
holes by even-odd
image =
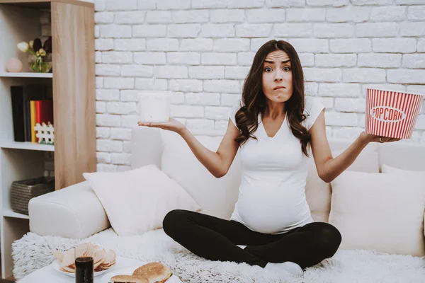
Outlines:
{"label": "plain white cup balanced on the woman's raised hand", "polygon": [[139,91],[140,122],[169,121],[171,91]]}

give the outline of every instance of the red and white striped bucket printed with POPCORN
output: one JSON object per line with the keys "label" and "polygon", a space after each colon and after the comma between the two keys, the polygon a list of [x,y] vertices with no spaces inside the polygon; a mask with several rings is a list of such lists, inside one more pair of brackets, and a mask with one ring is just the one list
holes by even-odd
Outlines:
{"label": "red and white striped bucket printed with POPCORN", "polygon": [[410,139],[424,95],[366,88],[365,132]]}

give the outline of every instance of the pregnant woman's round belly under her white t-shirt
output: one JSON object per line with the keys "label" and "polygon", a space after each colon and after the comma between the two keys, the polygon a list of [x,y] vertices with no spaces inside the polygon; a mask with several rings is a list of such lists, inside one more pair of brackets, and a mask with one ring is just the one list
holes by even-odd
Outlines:
{"label": "pregnant woman's round belly under her white t-shirt", "polygon": [[285,184],[241,187],[236,209],[246,226],[261,233],[279,233],[310,219],[304,187]]}

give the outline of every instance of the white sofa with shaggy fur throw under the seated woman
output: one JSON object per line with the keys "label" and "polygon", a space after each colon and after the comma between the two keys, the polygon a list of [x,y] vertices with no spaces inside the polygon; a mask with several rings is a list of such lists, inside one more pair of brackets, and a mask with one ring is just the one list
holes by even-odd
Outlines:
{"label": "white sofa with shaggy fur throw under the seated woman", "polygon": [[[215,150],[220,144],[222,139],[222,132],[193,132],[209,149]],[[344,151],[350,144],[348,140],[337,140],[330,139],[331,150],[336,156],[337,154]],[[167,144],[167,146],[164,146]],[[132,130],[132,168],[138,168],[147,164],[157,164],[170,178],[176,180],[188,193],[193,197],[205,214],[211,214],[223,219],[229,219],[230,214],[234,208],[234,203],[237,200],[238,185],[240,180],[241,168],[239,165],[239,152],[235,157],[234,163],[227,175],[222,178],[214,178],[212,175],[196,160],[195,156],[191,154],[190,149],[179,135],[167,132],[159,129],[152,129],[147,127],[135,127]],[[396,168],[403,168],[412,171],[425,171],[425,145],[420,144],[407,144],[405,142],[396,142],[390,144],[378,144],[372,143],[363,149],[362,153],[356,161],[348,168],[349,171],[363,171],[368,173],[378,173],[382,164],[393,166]],[[307,202],[310,205],[312,211],[312,217],[314,221],[328,221],[329,212],[331,209],[331,184],[324,183],[319,179],[316,168],[314,166],[314,160],[311,158],[309,173],[307,176],[306,184],[306,197]],[[16,245],[13,248],[14,260],[18,262],[18,268],[14,270],[16,276],[25,276],[28,272],[36,270],[42,266],[49,264],[52,260],[51,255],[44,253],[43,257],[38,258],[40,264],[33,266],[30,270],[23,268],[30,264],[30,258],[33,256],[33,252],[28,249],[35,249],[35,246],[44,248],[46,245],[49,248],[57,246],[64,248],[66,246],[72,246],[74,239],[84,239],[89,237],[93,241],[101,241],[108,248],[119,248],[128,245],[127,239],[120,240],[120,236],[112,235],[110,228],[111,225],[108,221],[108,216],[101,202],[96,197],[94,191],[89,186],[87,181],[78,183],[66,187],[62,190],[51,192],[40,197],[35,197],[30,201],[29,207],[30,216],[30,235],[24,236],[22,239],[16,241]],[[425,215],[424,215],[425,216]],[[425,221],[425,220],[424,220]],[[424,225],[421,225],[423,231]],[[108,229],[104,231],[105,229]],[[102,232],[101,232],[102,231]],[[98,233],[101,232],[101,233]],[[170,255],[165,255],[169,250],[173,250],[176,246],[172,246],[169,238],[163,231],[161,233],[149,234],[150,236],[144,235],[137,238],[139,245],[158,245],[155,250],[160,250],[160,247],[166,248],[162,252],[156,252],[151,254],[156,260],[170,260],[169,265],[174,267],[181,272],[186,267],[182,267],[182,262],[179,260],[171,260]],[[94,235],[94,236],[91,236]],[[52,237],[60,236],[60,237]],[[65,241],[65,238],[69,238]],[[150,240],[149,240],[150,239]],[[147,242],[149,240],[149,243]],[[131,241],[136,241],[132,239]],[[420,241],[420,240],[419,240]],[[158,243],[157,243],[158,242]],[[40,244],[41,243],[41,244]],[[66,244],[65,244],[66,243]],[[41,246],[40,246],[41,245]],[[168,245],[168,246],[167,246]],[[171,246],[173,248],[171,248]],[[315,270],[316,274],[307,274],[306,278],[311,279],[311,282],[341,282],[339,276],[359,276],[361,281],[344,281],[344,282],[377,282],[376,280],[382,279],[382,276],[377,274],[375,277],[370,277],[370,271],[365,271],[363,275],[358,272],[358,265],[363,264],[365,260],[375,259],[370,266],[375,266],[376,269],[385,270],[392,272],[393,268],[399,262],[400,266],[411,266],[416,265],[416,270],[412,273],[408,270],[399,270],[399,277],[392,277],[395,281],[386,282],[417,282],[415,281],[418,277],[425,276],[425,271],[422,270],[425,260],[424,258],[418,258],[417,255],[425,255],[425,238],[424,243],[417,245],[417,251],[412,254],[414,258],[408,259],[405,255],[388,255],[389,258],[382,258],[382,255],[375,255],[373,251],[367,254],[360,250],[360,252],[349,253],[350,250],[339,253],[338,260],[341,260],[339,265],[329,265],[325,262],[324,267],[327,268],[327,274],[329,278],[332,277],[331,281],[323,279],[319,281],[318,278],[322,278],[319,275],[320,267]],[[128,247],[130,252],[126,252],[123,255],[129,255],[130,257],[144,258],[146,250],[137,255],[133,253],[132,248]],[[137,248],[140,250],[140,246]],[[348,253],[345,253],[348,252]],[[157,253],[163,253],[164,258],[157,258]],[[184,261],[190,261],[188,255],[183,255],[182,252],[179,254],[184,258]],[[41,255],[40,255],[41,256]],[[147,255],[146,255],[147,256]],[[151,257],[151,258],[152,258]],[[398,257],[398,258],[397,258]],[[37,258],[37,257],[35,257]],[[196,260],[195,258],[191,258]],[[34,262],[33,259],[32,262]],[[415,261],[416,260],[416,261]],[[385,263],[387,262],[387,263]],[[391,262],[391,265],[388,263]],[[193,265],[194,263],[190,263]],[[198,264],[198,262],[196,262]],[[223,263],[224,264],[224,263]],[[212,265],[206,265],[212,266]],[[205,265],[198,266],[197,268],[204,268]],[[182,269],[183,268],[183,269]],[[212,267],[211,267],[212,268]],[[234,276],[244,277],[242,274],[246,274],[249,270],[241,270],[236,268],[234,265],[220,265],[222,277],[220,279],[227,278],[229,273],[234,272]],[[349,270],[351,268],[351,270]],[[361,267],[363,269],[367,267]],[[397,267],[395,267],[397,268]],[[192,270],[193,273],[190,273]],[[422,270],[422,271],[421,271]],[[184,275],[186,279],[190,279],[194,276],[204,276],[205,270],[196,270],[193,267],[187,267],[185,272],[190,274]],[[238,273],[239,272],[239,273]],[[342,272],[342,273],[341,273]],[[404,272],[404,273],[403,273]],[[422,273],[424,274],[422,274]],[[198,275],[200,274],[200,275]],[[218,276],[217,272],[210,272],[212,277]],[[351,274],[351,275],[350,275]],[[412,274],[412,281],[409,281],[407,276]],[[252,275],[254,276],[254,275]],[[324,275],[323,275],[324,276]],[[328,276],[328,275],[326,275]],[[259,277],[259,282],[273,282],[263,281],[266,277]],[[323,277],[328,278],[328,277]],[[366,279],[367,278],[367,279]],[[205,281],[202,278],[196,282],[215,282],[214,279],[211,281]],[[390,279],[387,277],[386,279]],[[405,281],[406,279],[407,281]],[[246,282],[252,282],[251,279]],[[358,280],[358,279],[357,279]],[[363,281],[362,281],[363,280]],[[191,280],[189,280],[191,282]],[[223,281],[225,282],[225,281]],[[239,282],[239,281],[238,281]],[[241,281],[245,282],[245,281]]]}

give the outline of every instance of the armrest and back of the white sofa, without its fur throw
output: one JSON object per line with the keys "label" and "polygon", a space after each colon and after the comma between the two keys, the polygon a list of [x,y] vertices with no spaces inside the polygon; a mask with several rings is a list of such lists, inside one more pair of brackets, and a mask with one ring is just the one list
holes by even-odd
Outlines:
{"label": "armrest and back of the white sofa, without its fur throw", "polygon": [[[222,139],[222,132],[194,132],[208,148],[215,150]],[[171,139],[173,146],[162,156],[164,137]],[[351,141],[329,139],[331,150],[336,156],[344,151]],[[425,171],[425,146],[403,142],[371,143],[363,149],[350,171],[380,172],[387,164],[397,168]],[[193,197],[201,212],[229,219],[237,200],[240,180],[239,152],[229,173],[220,180],[210,176],[195,159],[179,135],[160,129],[136,127],[132,130],[132,168],[157,164],[164,172],[175,178]],[[307,202],[314,221],[328,221],[331,207],[331,185],[319,179],[314,160],[311,158],[306,185]],[[30,200],[28,207],[30,231],[40,236],[62,236],[84,238],[103,231],[111,225],[101,202],[87,181],[57,190]]]}

